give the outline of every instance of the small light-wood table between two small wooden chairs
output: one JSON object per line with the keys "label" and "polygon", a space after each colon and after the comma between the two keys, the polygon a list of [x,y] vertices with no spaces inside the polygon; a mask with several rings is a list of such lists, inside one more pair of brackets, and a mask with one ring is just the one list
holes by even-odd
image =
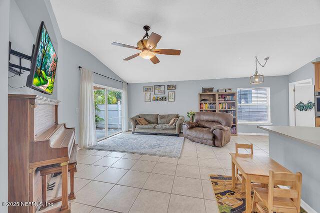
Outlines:
{"label": "small light-wood table between two small wooden chairs", "polygon": [[251,212],[251,182],[269,183],[269,171],[290,172],[268,156],[230,153],[232,168],[232,188],[235,187],[235,167],[245,179],[245,212]]}

